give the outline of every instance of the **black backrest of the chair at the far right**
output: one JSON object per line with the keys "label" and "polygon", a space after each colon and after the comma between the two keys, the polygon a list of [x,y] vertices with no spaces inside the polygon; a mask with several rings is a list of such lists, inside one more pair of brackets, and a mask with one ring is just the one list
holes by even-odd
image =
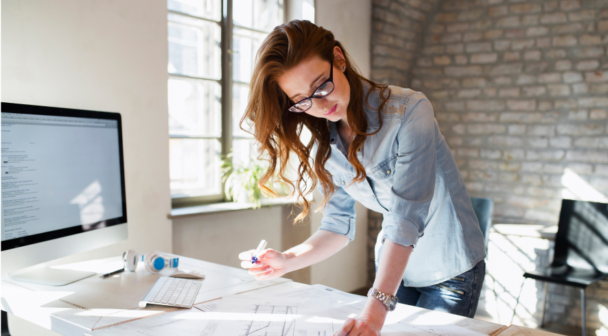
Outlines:
{"label": "black backrest of the chair at the far right", "polygon": [[562,200],[551,266],[608,274],[608,204]]}

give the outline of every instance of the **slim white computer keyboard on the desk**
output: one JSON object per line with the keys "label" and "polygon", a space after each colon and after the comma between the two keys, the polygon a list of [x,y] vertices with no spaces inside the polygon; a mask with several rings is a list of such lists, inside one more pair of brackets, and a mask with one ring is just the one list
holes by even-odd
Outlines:
{"label": "slim white computer keyboard on the desk", "polygon": [[152,289],[148,291],[148,294],[145,294],[143,300],[139,302],[139,307],[143,308],[150,303],[191,308],[200,285],[201,282],[198,280],[161,276],[159,280],[156,280]]}

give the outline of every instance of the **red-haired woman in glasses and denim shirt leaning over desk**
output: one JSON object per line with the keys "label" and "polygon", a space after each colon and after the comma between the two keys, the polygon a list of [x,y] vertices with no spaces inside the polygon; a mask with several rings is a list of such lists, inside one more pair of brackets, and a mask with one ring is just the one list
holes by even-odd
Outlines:
{"label": "red-haired woman in glasses and denim shirt leaning over desk", "polygon": [[[253,251],[239,255],[250,274],[277,278],[344,248],[355,236],[358,200],[384,214],[377,273],[364,311],[336,335],[379,335],[395,300],[473,317],[484,241],[425,95],[366,80],[331,32],[291,21],[257,53],[243,121],[270,160],[260,185],[278,172],[298,193],[298,219],[317,184],[325,197],[322,225],[307,241],[283,253],[265,250],[253,267]],[[303,127],[308,143],[300,140]],[[296,181],[284,175],[291,154],[299,159]]]}

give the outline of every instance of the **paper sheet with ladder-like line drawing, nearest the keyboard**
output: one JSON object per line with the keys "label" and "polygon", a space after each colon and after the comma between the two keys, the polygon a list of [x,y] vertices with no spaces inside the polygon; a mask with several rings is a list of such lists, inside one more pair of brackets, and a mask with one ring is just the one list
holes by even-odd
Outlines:
{"label": "paper sheet with ladder-like line drawing, nearest the keyboard", "polygon": [[200,336],[331,336],[327,298],[224,296]]}

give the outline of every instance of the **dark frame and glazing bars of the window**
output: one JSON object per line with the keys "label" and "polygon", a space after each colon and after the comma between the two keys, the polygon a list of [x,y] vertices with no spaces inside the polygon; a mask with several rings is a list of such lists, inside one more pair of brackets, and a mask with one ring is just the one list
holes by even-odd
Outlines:
{"label": "dark frame and glazing bars of the window", "polygon": [[[283,23],[286,22],[285,18],[288,17],[288,5],[289,0],[283,0]],[[222,0],[221,5],[221,17],[220,21],[213,21],[212,19],[203,18],[196,15],[186,14],[183,12],[178,12],[176,10],[169,10],[167,8],[167,16],[168,14],[175,14],[180,16],[185,16],[191,19],[207,21],[209,23],[215,23],[220,25],[221,33],[220,36],[222,38],[220,43],[220,60],[221,60],[221,78],[220,80],[215,80],[207,77],[196,77],[190,75],[182,75],[178,73],[168,73],[167,81],[171,77],[181,77],[193,80],[206,80],[212,82],[218,82],[220,86],[222,86],[222,99],[221,99],[221,121],[222,121],[222,134],[218,136],[185,136],[185,135],[177,135],[169,133],[170,139],[219,139],[222,150],[220,152],[221,158],[224,160],[230,160],[230,158],[226,158],[226,156],[231,152],[233,140],[239,139],[251,139],[249,137],[244,136],[233,136],[233,86],[234,84],[246,84],[246,82],[239,82],[233,80],[233,29],[245,29],[251,32],[269,34],[270,32],[263,32],[258,29],[253,29],[250,27],[243,27],[241,25],[235,25],[233,23],[233,0]],[[167,19],[167,27],[169,24],[169,19]],[[167,60],[168,61],[168,60]],[[168,112],[168,111],[167,111]],[[167,114],[168,115],[168,114]],[[221,159],[220,158],[220,159]],[[220,184],[220,193],[213,195],[200,195],[200,196],[191,196],[191,197],[171,197],[172,208],[182,208],[185,206],[198,206],[202,204],[211,204],[211,203],[220,203],[220,202],[229,202],[226,200],[226,195],[224,195],[224,182]]]}

